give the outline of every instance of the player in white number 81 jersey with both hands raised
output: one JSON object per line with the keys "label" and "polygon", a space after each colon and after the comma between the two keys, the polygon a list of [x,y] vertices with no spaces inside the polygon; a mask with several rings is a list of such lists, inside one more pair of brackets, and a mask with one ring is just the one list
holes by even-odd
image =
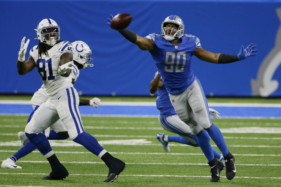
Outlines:
{"label": "player in white number 81 jersey with both hands raised", "polygon": [[25,43],[23,37],[21,42],[17,61],[18,73],[25,75],[37,67],[48,96],[48,100],[35,110],[25,127],[25,134],[51,165],[52,172],[42,179],[64,179],[68,176],[68,171],[57,159],[46,136],[41,133],[60,119],[71,140],[83,145],[105,162],[109,173],[104,182],[112,182],[124,170],[126,164],[110,155],[93,136],[84,131],[78,108],[79,96],[71,84],[72,77],[69,76],[73,70],[73,46],[68,41],[59,41],[59,29],[54,20],[43,19],[35,29],[39,44],[31,49],[27,61],[25,52],[29,39]]}

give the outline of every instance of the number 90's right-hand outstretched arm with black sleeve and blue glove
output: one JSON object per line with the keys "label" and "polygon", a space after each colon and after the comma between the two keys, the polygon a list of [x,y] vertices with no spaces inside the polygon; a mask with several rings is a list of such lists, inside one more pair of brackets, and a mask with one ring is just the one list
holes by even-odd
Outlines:
{"label": "number 90's right-hand outstretched arm with black sleeve and blue glove", "polygon": [[238,55],[212,53],[210,51],[205,51],[201,47],[201,48],[196,48],[195,51],[193,52],[193,55],[195,55],[200,60],[204,60],[206,62],[226,64],[226,63],[236,62],[239,60],[244,60],[250,56],[256,56],[257,54],[253,54],[254,52],[258,51],[258,50],[253,50],[255,47],[256,45],[250,44],[246,49],[244,49],[244,46],[242,45]]}

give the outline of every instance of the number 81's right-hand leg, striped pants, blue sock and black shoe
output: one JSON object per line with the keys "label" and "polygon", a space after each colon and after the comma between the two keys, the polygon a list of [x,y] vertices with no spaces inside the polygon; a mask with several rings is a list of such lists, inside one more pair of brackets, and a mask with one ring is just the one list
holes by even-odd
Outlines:
{"label": "number 81's right-hand leg, striped pants, blue sock and black shoe", "polygon": [[[64,94],[65,93],[65,94]],[[104,182],[112,182],[124,170],[125,163],[110,155],[96,140],[95,137],[86,133],[78,109],[79,96],[75,88],[71,87],[57,93],[62,96],[56,102],[57,111],[61,121],[68,130],[69,137],[76,143],[81,144],[93,154],[104,161],[109,168],[107,179]]]}

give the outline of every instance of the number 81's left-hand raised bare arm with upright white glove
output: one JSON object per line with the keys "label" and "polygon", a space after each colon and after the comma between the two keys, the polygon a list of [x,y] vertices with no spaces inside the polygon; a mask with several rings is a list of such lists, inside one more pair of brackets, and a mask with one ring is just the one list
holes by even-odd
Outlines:
{"label": "number 81's left-hand raised bare arm with upright white glove", "polygon": [[28,57],[28,60],[25,61],[25,53],[27,46],[29,44],[29,39],[25,42],[25,37],[23,37],[21,44],[20,44],[20,51],[18,52],[18,61],[17,61],[17,68],[18,68],[18,74],[19,75],[25,75],[28,72],[31,72],[35,65],[35,61],[32,58],[32,56]]}

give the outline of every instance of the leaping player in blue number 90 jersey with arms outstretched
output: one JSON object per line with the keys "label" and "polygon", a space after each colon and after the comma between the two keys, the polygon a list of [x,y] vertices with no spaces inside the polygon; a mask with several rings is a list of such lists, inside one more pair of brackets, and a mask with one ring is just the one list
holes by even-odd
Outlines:
{"label": "leaping player in blue number 90 jersey with arms outstretched", "polygon": [[[107,25],[110,25],[112,18],[112,15],[107,18]],[[196,135],[198,144],[209,161],[212,173],[210,182],[220,179],[221,169],[212,151],[210,137],[225,158],[227,179],[233,179],[236,174],[234,156],[229,152],[220,129],[210,119],[202,86],[191,70],[191,57],[194,55],[210,63],[232,63],[255,56],[253,53],[257,50],[253,49],[256,45],[250,44],[246,49],[242,45],[238,55],[205,51],[198,37],[184,34],[184,22],[177,15],[165,18],[161,24],[161,35],[153,33],[140,37],[127,29],[119,32],[141,50],[149,51],[152,55],[177,115]]]}

